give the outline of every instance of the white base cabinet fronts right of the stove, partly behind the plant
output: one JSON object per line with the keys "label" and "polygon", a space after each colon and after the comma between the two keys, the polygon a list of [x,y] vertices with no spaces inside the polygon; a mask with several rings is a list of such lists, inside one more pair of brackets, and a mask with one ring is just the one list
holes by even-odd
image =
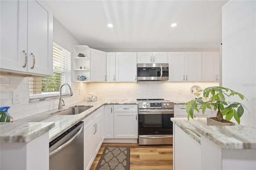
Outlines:
{"label": "white base cabinet fronts right of the stove, partly behind the plant", "polygon": [[[174,105],[174,117],[188,117],[188,113],[186,112],[186,105]],[[200,106],[198,106],[199,108]],[[194,111],[194,117],[212,117],[212,109],[206,108],[204,115],[202,113],[202,110],[199,110],[199,113],[197,111]]]}

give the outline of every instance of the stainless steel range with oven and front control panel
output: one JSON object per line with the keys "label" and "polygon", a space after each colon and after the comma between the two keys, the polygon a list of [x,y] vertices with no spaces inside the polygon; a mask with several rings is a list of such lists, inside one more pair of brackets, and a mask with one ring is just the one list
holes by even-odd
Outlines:
{"label": "stainless steel range with oven and front control panel", "polygon": [[164,99],[137,99],[139,144],[172,144],[174,103]]}

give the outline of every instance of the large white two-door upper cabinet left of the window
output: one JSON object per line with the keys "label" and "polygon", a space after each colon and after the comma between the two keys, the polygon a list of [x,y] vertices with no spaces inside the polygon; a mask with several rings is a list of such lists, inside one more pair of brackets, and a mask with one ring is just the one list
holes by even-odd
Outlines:
{"label": "large white two-door upper cabinet left of the window", "polygon": [[52,10],[36,0],[6,0],[0,6],[1,71],[51,76]]}

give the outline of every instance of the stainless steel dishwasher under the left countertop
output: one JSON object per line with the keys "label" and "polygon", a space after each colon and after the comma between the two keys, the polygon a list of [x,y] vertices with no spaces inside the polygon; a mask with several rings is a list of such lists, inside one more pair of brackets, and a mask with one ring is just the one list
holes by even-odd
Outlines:
{"label": "stainless steel dishwasher under the left countertop", "polygon": [[49,143],[49,169],[84,169],[84,122],[77,123]]}

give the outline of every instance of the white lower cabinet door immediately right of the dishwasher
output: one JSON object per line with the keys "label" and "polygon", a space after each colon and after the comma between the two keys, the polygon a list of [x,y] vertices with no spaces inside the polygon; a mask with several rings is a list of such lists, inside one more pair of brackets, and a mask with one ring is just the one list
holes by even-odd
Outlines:
{"label": "white lower cabinet door immediately right of the dishwasher", "polygon": [[93,157],[93,133],[94,125],[91,125],[89,128],[84,129],[84,170],[90,169]]}

